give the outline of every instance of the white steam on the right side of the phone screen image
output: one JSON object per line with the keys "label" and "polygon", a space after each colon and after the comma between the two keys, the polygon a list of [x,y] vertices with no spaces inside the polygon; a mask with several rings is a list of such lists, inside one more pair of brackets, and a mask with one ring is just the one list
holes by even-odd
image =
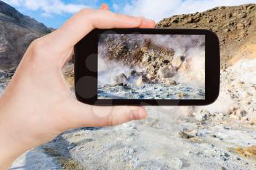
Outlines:
{"label": "white steam on the right side of the phone screen image", "polygon": [[185,56],[186,61],[173,78],[176,82],[205,88],[205,36],[204,35],[156,35],[156,45],[173,48],[176,60]]}

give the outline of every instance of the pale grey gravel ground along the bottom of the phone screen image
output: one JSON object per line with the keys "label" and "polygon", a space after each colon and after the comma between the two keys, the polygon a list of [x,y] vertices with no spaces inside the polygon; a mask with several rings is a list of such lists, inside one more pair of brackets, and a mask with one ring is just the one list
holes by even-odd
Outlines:
{"label": "pale grey gravel ground along the bottom of the phone screen image", "polygon": [[103,85],[98,88],[98,98],[117,99],[204,99],[205,90],[189,85],[146,84],[141,87],[135,85]]}

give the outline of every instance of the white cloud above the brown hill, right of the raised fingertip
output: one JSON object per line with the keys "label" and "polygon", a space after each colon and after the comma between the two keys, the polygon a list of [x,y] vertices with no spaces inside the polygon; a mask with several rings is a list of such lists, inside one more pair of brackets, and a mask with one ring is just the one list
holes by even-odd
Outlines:
{"label": "white cloud above the brown hill, right of the raised fingertip", "polygon": [[249,3],[256,3],[256,0],[133,0],[124,5],[115,4],[114,9],[127,15],[144,16],[159,21],[171,15]]}

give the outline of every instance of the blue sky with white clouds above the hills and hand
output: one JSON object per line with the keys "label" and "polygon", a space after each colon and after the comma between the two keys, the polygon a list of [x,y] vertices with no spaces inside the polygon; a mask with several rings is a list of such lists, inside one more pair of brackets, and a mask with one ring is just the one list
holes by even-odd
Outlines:
{"label": "blue sky with white clouds above the hills and hand", "polygon": [[127,15],[143,16],[156,22],[172,15],[202,12],[219,6],[256,3],[256,0],[2,0],[48,27],[59,28],[83,8],[100,7]]}

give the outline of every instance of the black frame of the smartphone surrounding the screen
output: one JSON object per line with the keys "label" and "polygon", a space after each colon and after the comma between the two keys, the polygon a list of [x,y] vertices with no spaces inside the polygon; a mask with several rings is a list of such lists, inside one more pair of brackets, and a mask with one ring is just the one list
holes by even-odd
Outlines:
{"label": "black frame of the smartphone surrounding the screen", "polygon": [[[206,98],[201,99],[98,99],[98,40],[100,34],[186,34],[206,37]],[[92,105],[198,106],[213,103],[219,96],[219,39],[214,32],[198,28],[113,28],[94,29],[75,45],[75,96]],[[89,59],[88,59],[89,58]],[[92,69],[91,69],[92,68]],[[89,77],[89,78],[88,78]]]}

